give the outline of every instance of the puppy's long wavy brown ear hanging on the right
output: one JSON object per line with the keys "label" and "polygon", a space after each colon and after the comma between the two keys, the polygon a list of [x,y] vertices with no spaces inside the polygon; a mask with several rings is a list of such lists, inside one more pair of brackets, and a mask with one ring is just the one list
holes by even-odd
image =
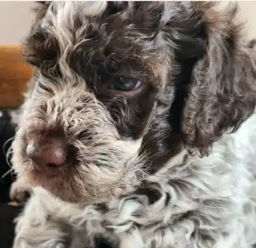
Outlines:
{"label": "puppy's long wavy brown ear hanging on the right", "polygon": [[256,53],[235,23],[235,6],[220,12],[213,3],[199,3],[196,11],[204,21],[205,54],[191,72],[181,131],[187,148],[202,152],[254,112]]}

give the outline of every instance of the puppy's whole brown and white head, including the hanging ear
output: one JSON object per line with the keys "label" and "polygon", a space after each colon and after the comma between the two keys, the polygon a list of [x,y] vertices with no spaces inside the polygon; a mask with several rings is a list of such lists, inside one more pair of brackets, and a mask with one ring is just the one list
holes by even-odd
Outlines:
{"label": "puppy's whole brown and white head, including the hanging ear", "polygon": [[100,203],[237,128],[254,112],[256,64],[235,12],[51,2],[25,44],[35,73],[13,142],[20,179]]}

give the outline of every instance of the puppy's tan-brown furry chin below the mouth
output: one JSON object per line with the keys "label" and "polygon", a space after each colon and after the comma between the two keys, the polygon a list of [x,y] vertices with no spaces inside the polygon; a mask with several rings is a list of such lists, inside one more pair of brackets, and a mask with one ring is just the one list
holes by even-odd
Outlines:
{"label": "puppy's tan-brown furry chin below the mouth", "polygon": [[[133,192],[136,186],[128,184],[124,187],[120,182],[104,184],[96,182],[86,184],[86,179],[78,176],[75,169],[66,167],[58,173],[49,173],[45,170],[31,167],[30,170],[20,170],[18,178],[27,186],[33,188],[40,186],[52,193],[55,197],[68,203],[79,203],[83,205],[107,203],[113,198],[122,197]],[[106,181],[108,181],[106,179]]]}

